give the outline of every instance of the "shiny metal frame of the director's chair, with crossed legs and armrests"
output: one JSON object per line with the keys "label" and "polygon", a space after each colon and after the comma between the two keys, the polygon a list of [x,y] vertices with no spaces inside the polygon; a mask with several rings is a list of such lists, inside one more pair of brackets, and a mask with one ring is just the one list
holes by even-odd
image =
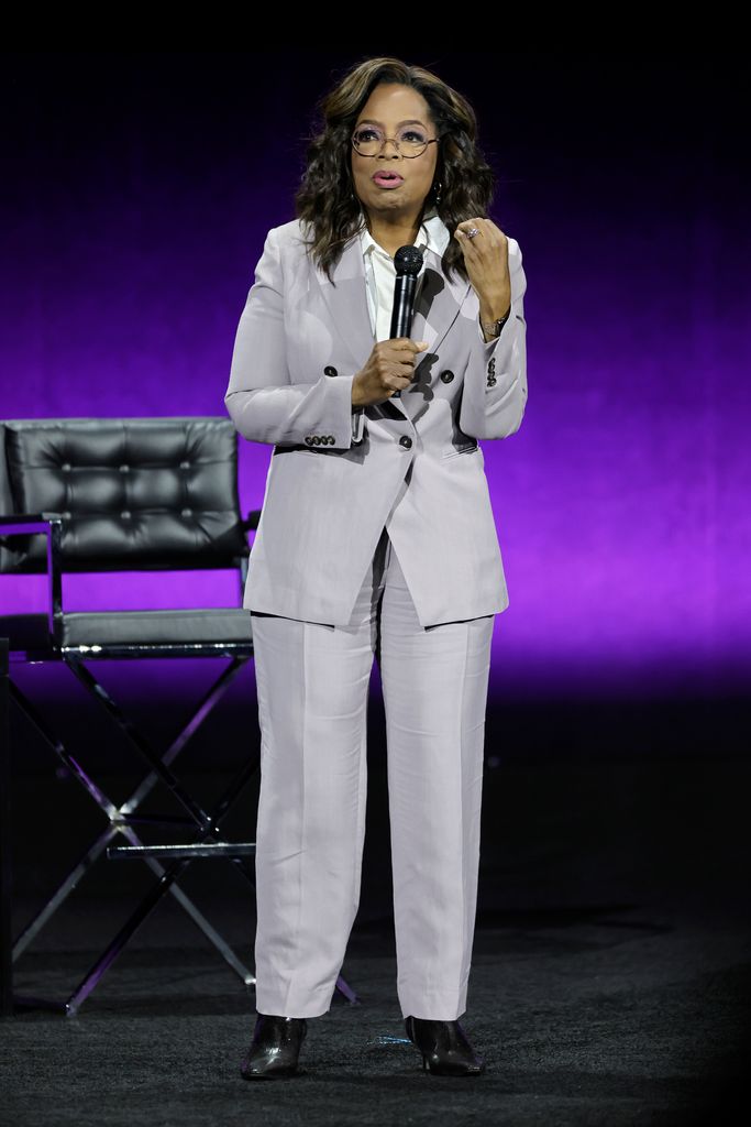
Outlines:
{"label": "shiny metal frame of the director's chair, with crossed legs and armrests", "polygon": [[[261,512],[256,509],[241,521],[242,529],[248,532],[256,530]],[[212,810],[206,810],[187,791],[171,770],[178,755],[188,740],[218,703],[235,676],[253,656],[252,637],[248,641],[208,641],[195,645],[175,645],[170,642],[150,644],[106,644],[97,646],[63,645],[64,612],[62,605],[62,575],[64,562],[62,558],[63,517],[59,513],[33,513],[0,515],[0,543],[9,545],[12,538],[28,536],[33,533],[44,533],[47,543],[46,575],[48,580],[47,630],[48,648],[42,650],[10,648],[9,639],[2,638],[0,619],[0,943],[2,957],[0,965],[0,1014],[12,1014],[19,1010],[53,1010],[72,1017],[78,1013],[83,1002],[101,980],[102,976],[122,953],[136,929],[146,920],[163,896],[169,891],[188,916],[200,929],[204,935],[216,948],[225,962],[242,979],[245,986],[254,985],[253,973],[238,958],[230,943],[209,923],[199,908],[179,887],[178,880],[194,860],[207,858],[224,858],[233,863],[254,889],[254,873],[251,872],[247,859],[254,857],[254,842],[225,842],[221,836],[221,822],[230,811],[234,801],[242,793],[251,777],[259,770],[260,757],[249,760],[233,778],[230,786],[215,804]],[[241,591],[248,575],[248,557],[236,559]],[[161,754],[151,742],[126,717],[111,694],[93,676],[87,662],[108,660],[110,658],[153,658],[153,657],[229,657],[230,665],[203,695],[191,716],[178,731],[169,746]],[[73,673],[86,691],[104,707],[108,716],[118,726],[129,744],[141,758],[145,761],[147,771],[135,786],[128,798],[119,806],[111,801],[95,782],[75,756],[55,736],[42,711],[28,699],[10,676],[14,663],[36,664],[41,662],[62,662]],[[34,728],[52,748],[56,757],[86,790],[90,798],[107,818],[107,826],[89,844],[80,859],[73,864],[65,878],[54,890],[42,909],[26,925],[20,935],[11,938],[11,859],[10,859],[10,747],[9,747],[9,710],[10,701],[27,717]],[[158,783],[162,783],[186,811],[185,816],[143,816],[138,807]],[[5,786],[3,786],[5,784]],[[196,834],[196,840],[182,844],[144,844],[136,832],[138,825],[180,826]],[[124,837],[127,845],[110,844],[118,836]],[[157,878],[147,893],[136,905],[126,923],[114,935],[101,955],[95,960],[83,978],[70,996],[60,1002],[28,995],[15,995],[12,988],[14,964],[28,949],[42,929],[61,907],[81,878],[92,868],[96,861],[106,855],[108,860],[141,860]],[[168,863],[163,863],[168,862]],[[351,1003],[359,999],[355,991],[340,975],[337,988]]]}

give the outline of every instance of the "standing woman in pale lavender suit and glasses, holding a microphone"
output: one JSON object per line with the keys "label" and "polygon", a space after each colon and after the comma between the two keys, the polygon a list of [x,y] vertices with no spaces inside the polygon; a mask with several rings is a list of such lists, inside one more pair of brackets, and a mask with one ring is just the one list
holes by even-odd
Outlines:
{"label": "standing woman in pale lavender suit and glasses, holding a microphone", "polygon": [[[467,101],[397,59],[321,103],[296,219],[268,232],[225,403],[274,446],[244,592],[256,646],[253,1041],[248,1079],[297,1068],[331,1004],[360,890],[366,708],[387,735],[397,996],[431,1073],[483,1062],[466,1009],[494,615],[508,605],[479,438],[518,431],[526,278],[486,216]],[[390,338],[393,256],[423,259]]]}

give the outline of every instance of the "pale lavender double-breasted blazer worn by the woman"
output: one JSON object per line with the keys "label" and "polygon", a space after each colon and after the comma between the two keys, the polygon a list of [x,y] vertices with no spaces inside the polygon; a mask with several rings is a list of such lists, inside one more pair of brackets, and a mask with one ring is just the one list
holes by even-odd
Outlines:
{"label": "pale lavender double-breasted blazer worn by the woman", "polygon": [[477,440],[518,431],[527,401],[527,283],[511,238],[509,263],[511,314],[485,344],[474,289],[426,251],[410,336],[428,348],[401,397],[358,419],[352,380],[375,339],[359,236],[332,284],[299,220],[268,232],[224,397],[238,432],[274,446],[245,607],[346,625],[387,524],[423,627],[506,610]]}

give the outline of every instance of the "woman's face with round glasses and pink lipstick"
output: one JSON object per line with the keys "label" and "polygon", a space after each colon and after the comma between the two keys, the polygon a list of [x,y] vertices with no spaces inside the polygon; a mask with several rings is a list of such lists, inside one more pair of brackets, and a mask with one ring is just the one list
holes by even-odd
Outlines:
{"label": "woman's face with round glasses and pink lipstick", "polygon": [[[435,137],[436,126],[428,103],[417,90],[401,82],[377,86],[355,123],[360,131],[375,126],[383,136],[395,137],[410,125],[420,128],[428,139]],[[355,130],[352,132],[355,132]],[[438,161],[438,145],[429,144],[420,157],[403,157],[393,141],[386,141],[375,157],[361,157],[352,147],[352,179],[355,192],[368,214],[388,221],[414,222],[426,196],[430,192]],[[401,180],[377,183],[377,171],[396,172]]]}

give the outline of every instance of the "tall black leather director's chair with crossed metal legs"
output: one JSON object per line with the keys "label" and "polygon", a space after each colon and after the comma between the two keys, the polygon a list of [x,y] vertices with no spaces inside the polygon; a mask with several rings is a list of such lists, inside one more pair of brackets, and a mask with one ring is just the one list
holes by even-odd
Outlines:
{"label": "tall black leather director's chair with crossed metal legs", "polygon": [[[169,891],[249,986],[252,971],[180,888],[197,859],[229,860],[254,888],[249,859],[254,842],[226,842],[221,823],[259,767],[250,758],[220,801],[206,810],[172,767],[186,744],[253,656],[250,611],[242,606],[248,575],[247,534],[260,511],[240,514],[238,435],[224,417],[128,419],[14,419],[0,423],[0,576],[44,574],[46,613],[0,613],[0,783],[10,777],[9,701],[15,701],[106,819],[101,833],[12,942],[0,969],[0,1008],[52,1009],[74,1014],[122,952],[136,929]],[[198,610],[63,610],[65,573],[236,569],[239,605]],[[0,578],[0,584],[1,584]],[[86,663],[154,657],[229,657],[213,686],[161,754],[124,713]],[[14,682],[14,664],[62,662],[99,702],[147,770],[127,800],[113,802],[79,757],[54,734],[46,716]],[[5,668],[3,668],[5,665]],[[3,720],[5,717],[5,720]],[[97,764],[101,766],[101,763]],[[182,814],[138,813],[161,784]],[[0,805],[0,925],[10,932],[8,788]],[[176,829],[182,841],[144,842],[142,827]],[[119,842],[119,844],[111,844]],[[123,844],[126,842],[127,844]],[[157,878],[127,922],[64,1002],[14,997],[12,966],[97,860],[143,861]],[[337,987],[357,995],[339,976]]]}

